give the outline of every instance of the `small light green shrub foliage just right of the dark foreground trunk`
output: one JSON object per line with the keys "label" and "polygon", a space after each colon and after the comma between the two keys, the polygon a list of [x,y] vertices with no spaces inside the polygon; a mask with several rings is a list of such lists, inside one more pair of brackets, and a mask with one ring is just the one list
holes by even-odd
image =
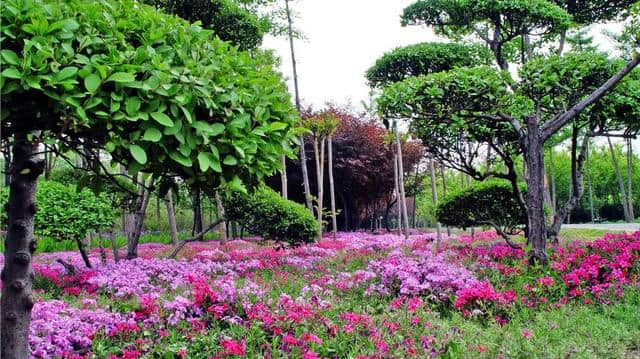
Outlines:
{"label": "small light green shrub foliage just right of the dark foreground trunk", "polygon": [[[8,189],[0,189],[0,203],[8,199]],[[40,238],[56,241],[83,239],[87,233],[111,228],[118,212],[109,198],[96,196],[89,190],[76,191],[75,185],[63,185],[43,181],[38,186],[36,201],[39,204],[35,216],[35,234]],[[7,221],[7,212],[0,215]]]}

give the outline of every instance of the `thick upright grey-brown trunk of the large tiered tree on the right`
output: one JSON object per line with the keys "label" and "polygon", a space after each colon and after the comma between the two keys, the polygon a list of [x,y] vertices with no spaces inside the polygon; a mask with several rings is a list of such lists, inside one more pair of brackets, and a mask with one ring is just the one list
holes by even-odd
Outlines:
{"label": "thick upright grey-brown trunk of the large tiered tree on the right", "polygon": [[531,263],[547,262],[547,226],[544,217],[544,142],[540,136],[538,117],[526,119],[525,162],[527,182],[527,222],[528,240],[532,248],[529,252]]}

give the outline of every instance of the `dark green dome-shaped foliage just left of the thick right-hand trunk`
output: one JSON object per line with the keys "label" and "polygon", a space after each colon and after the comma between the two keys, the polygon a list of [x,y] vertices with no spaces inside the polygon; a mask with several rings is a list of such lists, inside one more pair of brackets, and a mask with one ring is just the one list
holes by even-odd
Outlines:
{"label": "dark green dome-shaped foliage just left of the thick right-hand trunk", "polygon": [[[522,191],[525,189],[522,188]],[[438,204],[438,221],[452,227],[497,226],[513,233],[527,221],[507,182],[481,182],[452,193]]]}

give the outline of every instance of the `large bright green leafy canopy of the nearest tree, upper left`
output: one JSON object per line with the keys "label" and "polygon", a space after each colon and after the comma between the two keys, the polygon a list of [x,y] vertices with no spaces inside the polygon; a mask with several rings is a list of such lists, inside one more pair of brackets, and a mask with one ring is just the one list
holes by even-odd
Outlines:
{"label": "large bright green leafy canopy of the nearest tree, upper left", "polygon": [[1,20],[3,139],[41,131],[132,174],[236,190],[293,153],[297,115],[269,56],[133,0],[8,0]]}

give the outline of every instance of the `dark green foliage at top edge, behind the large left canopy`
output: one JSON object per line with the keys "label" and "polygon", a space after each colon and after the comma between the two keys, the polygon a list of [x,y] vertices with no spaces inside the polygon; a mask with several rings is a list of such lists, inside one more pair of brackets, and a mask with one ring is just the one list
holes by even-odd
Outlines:
{"label": "dark green foliage at top edge, behind the large left canopy", "polygon": [[247,50],[260,46],[268,24],[230,0],[145,0],[189,22],[200,21],[222,40]]}

